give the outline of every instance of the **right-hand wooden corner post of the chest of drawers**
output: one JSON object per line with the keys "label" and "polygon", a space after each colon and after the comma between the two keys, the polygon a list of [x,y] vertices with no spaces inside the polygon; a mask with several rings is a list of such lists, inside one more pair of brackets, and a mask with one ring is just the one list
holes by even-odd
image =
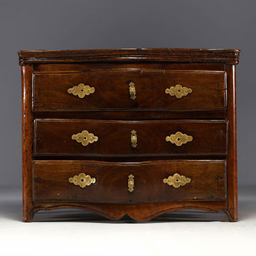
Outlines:
{"label": "right-hand wooden corner post of the chest of drawers", "polygon": [[227,157],[227,189],[228,212],[230,219],[237,221],[237,144],[236,144],[236,66],[227,65],[228,109],[229,122],[228,157]]}

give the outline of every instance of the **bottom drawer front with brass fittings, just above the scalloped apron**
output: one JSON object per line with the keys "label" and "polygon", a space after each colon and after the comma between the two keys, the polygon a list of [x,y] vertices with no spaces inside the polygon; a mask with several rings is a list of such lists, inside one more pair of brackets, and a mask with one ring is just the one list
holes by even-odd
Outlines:
{"label": "bottom drawer front with brass fittings, just above the scalloped apron", "polygon": [[33,161],[33,196],[117,204],[224,200],[226,162]]}

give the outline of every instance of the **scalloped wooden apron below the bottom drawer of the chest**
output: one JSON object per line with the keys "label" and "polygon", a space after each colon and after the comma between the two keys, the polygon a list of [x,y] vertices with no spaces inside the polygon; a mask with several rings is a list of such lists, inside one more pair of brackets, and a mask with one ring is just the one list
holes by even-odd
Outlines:
{"label": "scalloped wooden apron below the bottom drawer of the chest", "polygon": [[170,211],[196,209],[210,212],[225,212],[229,221],[234,221],[227,209],[227,200],[222,201],[184,201],[184,202],[162,202],[150,204],[99,204],[70,201],[38,201],[31,209],[35,214],[37,211],[49,211],[61,208],[77,208],[95,212],[109,220],[121,220],[125,214],[136,221],[148,221]]}

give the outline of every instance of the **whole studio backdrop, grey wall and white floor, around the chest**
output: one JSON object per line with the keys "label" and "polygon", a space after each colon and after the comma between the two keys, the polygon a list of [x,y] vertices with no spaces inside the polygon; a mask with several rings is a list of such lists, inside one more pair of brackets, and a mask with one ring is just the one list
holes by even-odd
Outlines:
{"label": "whole studio backdrop, grey wall and white floor, around the chest", "polygon": [[[0,0],[0,254],[255,252],[255,11],[255,0]],[[70,221],[70,211],[63,209],[40,211],[35,222],[22,223],[17,51],[131,47],[241,49],[237,66],[238,178],[243,186],[239,222],[207,221],[219,220],[220,214],[182,211],[134,223],[108,221],[78,210],[72,211]]]}

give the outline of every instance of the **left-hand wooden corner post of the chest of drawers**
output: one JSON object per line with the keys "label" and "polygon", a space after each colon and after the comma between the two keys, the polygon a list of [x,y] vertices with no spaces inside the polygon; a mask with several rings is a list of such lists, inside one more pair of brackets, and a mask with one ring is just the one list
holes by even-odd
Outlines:
{"label": "left-hand wooden corner post of the chest of drawers", "polygon": [[21,67],[22,77],[22,198],[23,220],[33,218],[32,172],[33,115],[32,115],[32,70],[31,65]]}

